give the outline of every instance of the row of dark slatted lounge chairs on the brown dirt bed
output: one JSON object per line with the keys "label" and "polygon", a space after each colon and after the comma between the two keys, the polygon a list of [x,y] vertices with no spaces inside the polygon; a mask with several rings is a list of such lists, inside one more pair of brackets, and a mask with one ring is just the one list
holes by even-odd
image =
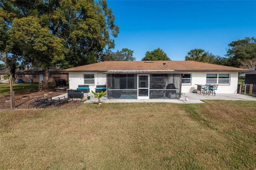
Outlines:
{"label": "row of dark slatted lounge chairs on the brown dirt bed", "polygon": [[28,108],[30,105],[33,105],[33,106],[36,106],[36,109],[38,107],[45,107],[45,106],[48,106],[48,105],[61,105],[63,103],[68,103],[69,100],[73,101],[73,98],[72,97],[68,97],[66,98],[65,96],[63,97],[58,97],[56,99],[52,99],[52,97],[38,97],[36,101],[30,103],[28,105]]}

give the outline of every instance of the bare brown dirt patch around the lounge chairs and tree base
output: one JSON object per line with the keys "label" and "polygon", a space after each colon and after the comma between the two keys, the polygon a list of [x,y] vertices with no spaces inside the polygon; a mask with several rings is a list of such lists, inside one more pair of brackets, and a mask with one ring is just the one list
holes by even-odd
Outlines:
{"label": "bare brown dirt patch around the lounge chairs and tree base", "polygon": [[[15,105],[17,109],[33,109],[34,106],[29,106],[30,103],[36,101],[38,97],[55,97],[58,95],[62,95],[66,93],[66,90],[59,90],[55,91],[53,89],[44,90],[44,91],[37,91],[32,93],[24,93],[15,95]],[[6,96],[10,100],[10,95]],[[80,101],[69,101],[68,103],[63,103],[62,105],[49,105],[44,108],[74,108],[80,105],[82,102]],[[2,96],[0,97],[0,109],[10,109],[10,101]]]}

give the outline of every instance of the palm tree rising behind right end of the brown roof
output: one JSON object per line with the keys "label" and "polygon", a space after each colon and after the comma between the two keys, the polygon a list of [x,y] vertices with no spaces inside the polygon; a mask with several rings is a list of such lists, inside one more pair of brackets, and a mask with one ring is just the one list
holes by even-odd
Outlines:
{"label": "palm tree rising behind right end of the brown roof", "polygon": [[185,60],[208,62],[208,53],[204,49],[191,49],[186,55]]}

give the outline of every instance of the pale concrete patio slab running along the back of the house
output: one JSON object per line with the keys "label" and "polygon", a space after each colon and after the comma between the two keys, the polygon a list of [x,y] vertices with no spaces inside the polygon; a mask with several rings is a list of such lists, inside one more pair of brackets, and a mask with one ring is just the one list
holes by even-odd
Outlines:
{"label": "pale concrete patio slab running along the back of the house", "polygon": [[[87,93],[88,95],[93,95],[92,93]],[[57,97],[67,97],[67,93],[53,97],[53,99]],[[86,96],[85,96],[86,97]],[[101,103],[204,103],[202,100],[241,100],[241,101],[256,101],[256,97],[251,97],[247,95],[241,94],[231,94],[231,93],[217,93],[216,96],[214,95],[199,95],[196,93],[186,93],[182,95],[181,99],[149,99],[149,100],[138,100],[138,99],[104,99],[102,97],[100,99]],[[186,98],[188,100],[186,101]],[[79,99],[74,99],[79,100]],[[84,103],[97,103],[98,99],[91,97],[90,100],[85,101]]]}

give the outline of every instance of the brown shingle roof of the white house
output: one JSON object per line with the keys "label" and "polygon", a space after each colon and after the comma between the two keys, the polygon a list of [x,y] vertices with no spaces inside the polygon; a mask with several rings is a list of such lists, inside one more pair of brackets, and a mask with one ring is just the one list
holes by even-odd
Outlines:
{"label": "brown shingle roof of the white house", "polygon": [[[166,63],[165,65],[163,63]],[[197,61],[104,61],[66,69],[63,71],[109,70],[175,70],[175,71],[248,71],[236,67],[202,63]]]}

